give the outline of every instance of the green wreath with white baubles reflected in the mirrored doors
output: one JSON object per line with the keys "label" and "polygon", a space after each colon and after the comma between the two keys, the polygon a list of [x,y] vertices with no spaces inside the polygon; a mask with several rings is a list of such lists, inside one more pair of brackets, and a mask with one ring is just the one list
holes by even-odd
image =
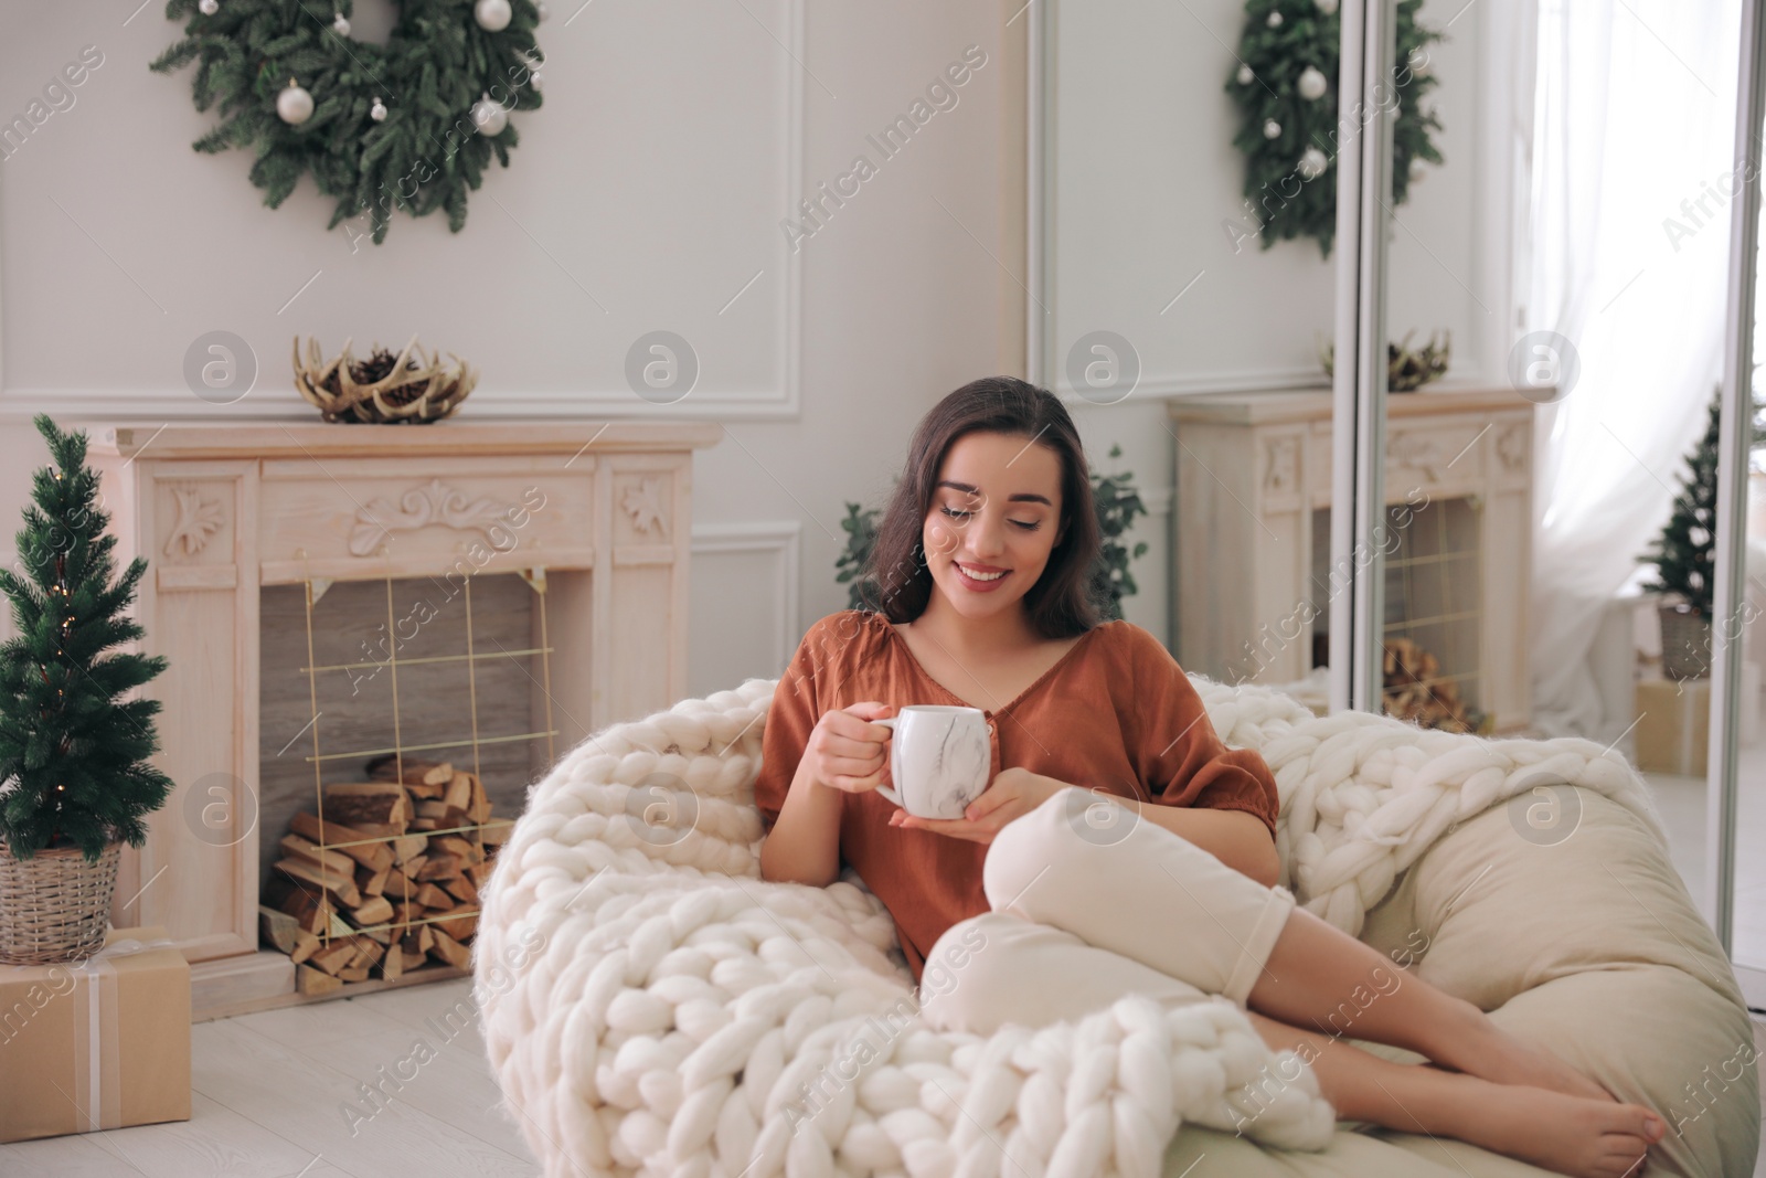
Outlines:
{"label": "green wreath with white baubles reflected in the mirrored doors", "polygon": [[[1392,200],[1402,205],[1422,161],[1441,162],[1429,140],[1441,122],[1422,109],[1422,99],[1439,81],[1429,69],[1429,44],[1441,34],[1416,23],[1422,0],[1397,0],[1392,125]],[[1316,237],[1330,258],[1337,233],[1337,143],[1356,134],[1355,111],[1337,124],[1337,60],[1342,21],[1337,0],[1250,0],[1238,42],[1240,64],[1227,79],[1238,102],[1240,131],[1233,145],[1245,152],[1245,207],[1250,228],[1227,223],[1234,244],[1263,238]],[[1415,171],[1413,171],[1415,170]]]}

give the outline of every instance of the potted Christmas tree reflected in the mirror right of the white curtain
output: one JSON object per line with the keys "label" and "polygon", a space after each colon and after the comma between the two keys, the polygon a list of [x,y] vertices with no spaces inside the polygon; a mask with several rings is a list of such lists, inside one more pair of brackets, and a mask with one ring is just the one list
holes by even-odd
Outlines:
{"label": "potted Christmas tree reflected in the mirror right of the white curtain", "polygon": [[[1717,445],[1722,420],[1724,389],[1711,397],[1704,436],[1687,456],[1687,473],[1679,477],[1674,512],[1641,562],[1655,565],[1655,576],[1639,588],[1664,593],[1662,673],[1669,678],[1704,678],[1711,673],[1711,595],[1717,572]],[[1752,420],[1752,445],[1766,442],[1766,422],[1759,403]]]}

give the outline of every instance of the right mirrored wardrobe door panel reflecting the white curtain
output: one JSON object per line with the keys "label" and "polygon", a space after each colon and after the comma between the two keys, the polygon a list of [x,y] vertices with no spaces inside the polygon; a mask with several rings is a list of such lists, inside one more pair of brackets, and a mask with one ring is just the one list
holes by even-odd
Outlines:
{"label": "right mirrored wardrobe door panel reflecting the white curtain", "polygon": [[[1397,7],[1395,67],[1423,85],[1393,127],[1385,279],[1388,712],[1621,752],[1715,922],[1740,0]],[[1740,669],[1741,752],[1766,756]]]}

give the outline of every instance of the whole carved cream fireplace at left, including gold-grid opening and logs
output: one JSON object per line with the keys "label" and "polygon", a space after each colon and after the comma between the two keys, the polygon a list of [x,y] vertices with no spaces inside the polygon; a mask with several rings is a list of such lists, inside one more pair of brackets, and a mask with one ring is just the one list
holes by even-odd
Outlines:
{"label": "whole carved cream fireplace at left, including gold-grid opening and logs", "polygon": [[[81,426],[118,560],[152,558],[136,602],[141,648],[170,659],[147,691],[164,703],[155,763],[177,789],[147,844],[125,848],[111,918],[168,929],[192,963],[196,1017],[300,1000],[290,955],[260,950],[260,901],[281,890],[261,888],[288,878],[274,864],[297,812],[344,807],[332,816],[389,832],[369,842],[404,864],[417,835],[454,841],[438,851],[459,860],[457,874],[410,876],[431,888],[431,904],[417,904],[378,872],[344,880],[341,857],[378,851],[300,819],[321,835],[295,828],[311,844],[297,846],[304,862],[339,872],[307,887],[364,901],[350,934],[367,922],[397,952],[411,948],[397,934],[419,924],[470,933],[461,897],[525,784],[592,731],[687,691],[692,450],[722,436],[715,424]],[[389,650],[364,650],[371,623],[394,638]],[[321,671],[350,676],[325,706]],[[390,696],[394,676],[387,708],[376,692]],[[376,751],[394,756],[378,775]],[[457,781],[392,797],[399,782],[389,793],[383,777],[422,761],[452,761]],[[275,784],[283,766],[306,774],[300,797]],[[373,805],[399,816],[360,809],[357,795],[376,789]],[[401,821],[404,834],[390,834]],[[351,890],[369,881],[381,890]],[[381,904],[366,901],[383,895],[410,927],[371,920]],[[350,978],[366,968],[327,961]],[[390,961],[376,964],[376,980],[357,985],[410,980],[378,980]]]}

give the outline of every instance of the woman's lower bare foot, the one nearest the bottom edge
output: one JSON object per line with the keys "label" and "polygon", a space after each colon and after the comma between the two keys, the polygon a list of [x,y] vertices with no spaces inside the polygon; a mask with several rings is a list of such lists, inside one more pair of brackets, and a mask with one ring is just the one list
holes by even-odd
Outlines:
{"label": "woman's lower bare foot, the one nearest the bottom edge", "polygon": [[1648,1148],[1667,1132],[1660,1116],[1637,1104],[1468,1079],[1446,1132],[1559,1174],[1634,1174]]}

